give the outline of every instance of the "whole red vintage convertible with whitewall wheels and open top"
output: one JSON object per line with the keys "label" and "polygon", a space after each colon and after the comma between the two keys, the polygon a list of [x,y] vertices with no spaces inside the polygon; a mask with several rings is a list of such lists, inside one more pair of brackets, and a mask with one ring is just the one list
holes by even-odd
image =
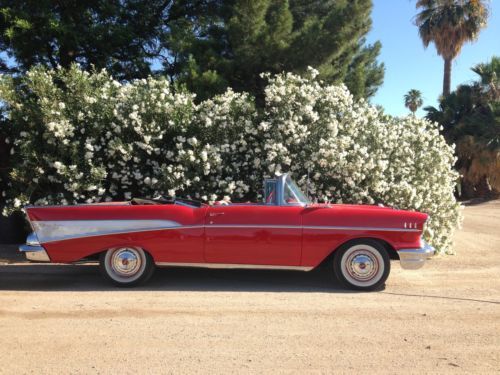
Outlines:
{"label": "whole red vintage convertible with whitewall wheels and open top", "polygon": [[426,214],[311,204],[286,174],[265,181],[262,203],[132,199],[26,213],[33,233],[20,251],[27,259],[99,259],[119,286],[147,281],[155,266],[309,271],[326,263],[347,287],[373,290],[389,276],[390,259],[417,269],[434,254],[421,238]]}

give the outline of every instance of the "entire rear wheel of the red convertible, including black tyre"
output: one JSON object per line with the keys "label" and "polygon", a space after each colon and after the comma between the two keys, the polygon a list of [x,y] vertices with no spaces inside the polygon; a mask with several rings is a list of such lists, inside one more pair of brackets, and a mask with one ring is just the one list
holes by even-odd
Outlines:
{"label": "entire rear wheel of the red convertible, including black tyre", "polygon": [[101,273],[113,284],[122,287],[140,285],[153,275],[151,255],[139,247],[117,247],[102,253]]}

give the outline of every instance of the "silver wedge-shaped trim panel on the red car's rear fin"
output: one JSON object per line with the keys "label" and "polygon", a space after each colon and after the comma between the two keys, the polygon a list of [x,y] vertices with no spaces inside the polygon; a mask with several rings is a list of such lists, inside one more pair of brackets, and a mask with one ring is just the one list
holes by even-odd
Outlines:
{"label": "silver wedge-shaped trim panel on the red car's rear fin", "polygon": [[172,220],[57,220],[31,224],[40,243],[181,227]]}

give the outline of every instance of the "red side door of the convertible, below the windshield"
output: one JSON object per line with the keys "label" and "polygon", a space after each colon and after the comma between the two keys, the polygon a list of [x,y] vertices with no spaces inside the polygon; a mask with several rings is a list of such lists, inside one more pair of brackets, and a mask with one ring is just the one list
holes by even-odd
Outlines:
{"label": "red side door of the convertible, below the windshield", "polygon": [[211,206],[205,221],[205,262],[299,266],[300,206]]}

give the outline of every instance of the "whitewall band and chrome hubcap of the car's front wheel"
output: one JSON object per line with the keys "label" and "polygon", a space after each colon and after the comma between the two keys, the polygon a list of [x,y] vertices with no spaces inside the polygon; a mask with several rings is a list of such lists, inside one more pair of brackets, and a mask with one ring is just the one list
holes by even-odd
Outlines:
{"label": "whitewall band and chrome hubcap of the car's front wheel", "polygon": [[384,258],[370,245],[354,245],[342,255],[340,270],[352,285],[370,287],[384,275]]}

